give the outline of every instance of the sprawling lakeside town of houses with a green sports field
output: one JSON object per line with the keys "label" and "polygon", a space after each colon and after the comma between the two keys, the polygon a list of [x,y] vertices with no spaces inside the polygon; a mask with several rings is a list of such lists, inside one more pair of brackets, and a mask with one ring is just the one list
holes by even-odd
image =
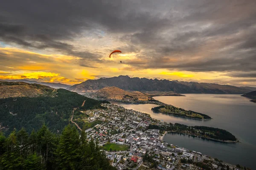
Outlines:
{"label": "sprawling lakeside town of houses with a green sports field", "polygon": [[149,114],[113,104],[102,106],[106,109],[84,111],[90,115],[84,120],[93,125],[85,133],[87,139],[99,142],[112,166],[119,170],[239,170],[235,165],[164,142],[167,132],[152,125],[169,124]]}

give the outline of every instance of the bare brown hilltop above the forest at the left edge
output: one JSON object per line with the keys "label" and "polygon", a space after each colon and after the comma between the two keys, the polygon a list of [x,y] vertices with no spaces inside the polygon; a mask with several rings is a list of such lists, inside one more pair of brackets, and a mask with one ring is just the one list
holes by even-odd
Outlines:
{"label": "bare brown hilltop above the forest at the left edge", "polygon": [[26,82],[0,81],[0,99],[9,97],[55,96],[56,89],[46,85],[29,84]]}

